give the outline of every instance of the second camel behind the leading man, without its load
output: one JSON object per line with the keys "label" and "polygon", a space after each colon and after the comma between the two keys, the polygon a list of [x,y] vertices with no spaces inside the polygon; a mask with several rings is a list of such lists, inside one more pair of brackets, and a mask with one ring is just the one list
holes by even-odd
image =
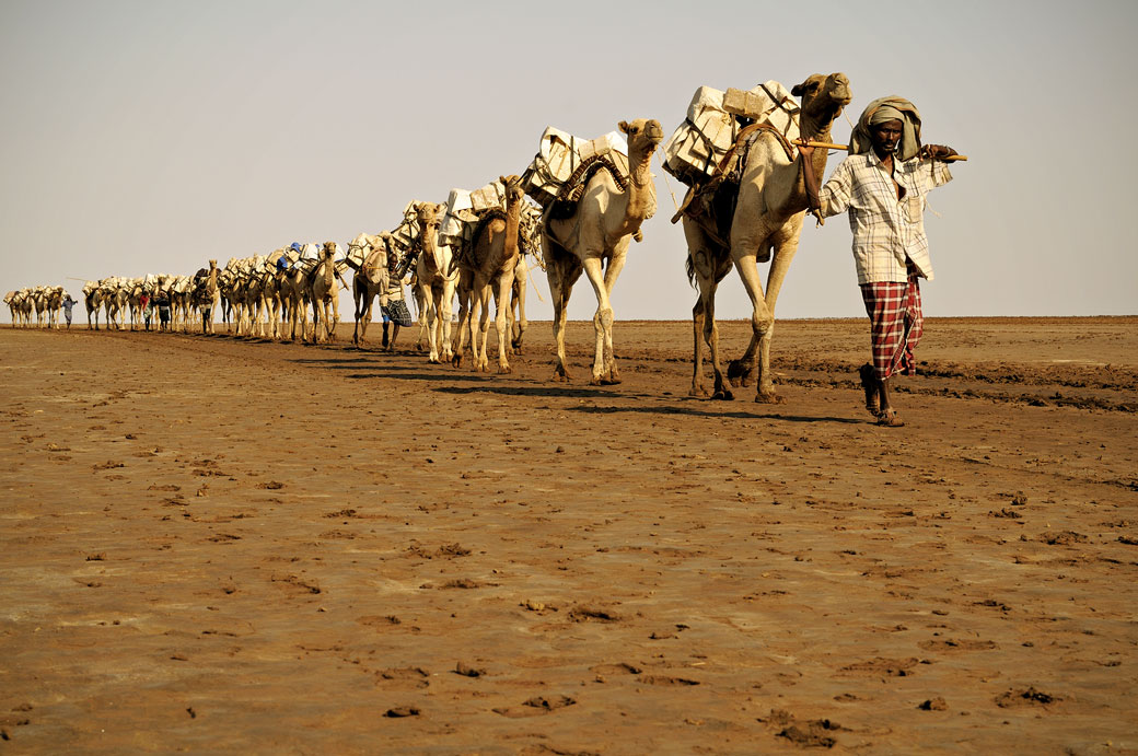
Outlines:
{"label": "second camel behind the leading man, without its load", "polygon": [[584,271],[596,294],[592,383],[620,383],[612,353],[612,287],[625,266],[628,243],[634,235],[640,238],[641,224],[655,213],[655,187],[649,162],[663,139],[660,122],[654,118],[621,121],[620,131],[628,135],[627,186],[621,189],[608,170],[596,171],[585,184],[572,215],[550,217],[542,233],[545,273],[553,299],[553,338],[558,351],[555,378],[561,380],[569,380],[564,344],[569,295]]}

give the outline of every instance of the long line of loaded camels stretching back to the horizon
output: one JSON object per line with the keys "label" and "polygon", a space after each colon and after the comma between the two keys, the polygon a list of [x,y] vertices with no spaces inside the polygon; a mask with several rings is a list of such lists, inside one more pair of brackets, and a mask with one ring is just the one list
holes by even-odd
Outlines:
{"label": "long line of loaded camels stretching back to the horizon", "polygon": [[[221,268],[209,261],[193,276],[88,281],[88,324],[99,328],[101,309],[108,329],[212,335],[220,318],[226,332],[239,337],[330,343],[343,286],[354,303],[353,345],[366,344],[378,299],[382,350],[395,347],[401,328],[418,326],[415,347],[429,362],[459,367],[469,348],[471,368],[488,371],[493,302],[497,371],[509,373],[510,355],[522,348],[526,284],[536,264],[552,298],[555,378],[570,378],[566,315],[584,273],[596,298],[591,380],[616,384],[612,291],[629,245],[644,240],[641,227],[657,211],[650,163],[662,145],[665,170],[687,187],[671,222],[682,222],[686,270],[698,291],[690,393],[732,398],[728,383],[753,383],[757,401],[777,401],[769,362],[775,303],[808,205],[794,142],[828,142],[834,120],[851,98],[844,74],[815,74],[790,90],[776,81],[750,90],[701,87],[667,140],[652,118],[621,121],[618,130],[592,140],[551,126],[521,173],[475,190],[452,189],[445,203],[411,202],[394,229],[358,233],[346,248],[335,241],[294,243],[267,255],[231,258]],[[826,156],[825,149],[813,156],[819,174]],[[759,264],[767,262],[764,286]],[[725,373],[715,295],[732,269],[753,305],[753,336]],[[57,327],[65,294],[59,287],[35,287],[10,293],[5,302],[16,326],[31,326],[34,310],[36,324]],[[714,373],[710,389],[704,359]]]}

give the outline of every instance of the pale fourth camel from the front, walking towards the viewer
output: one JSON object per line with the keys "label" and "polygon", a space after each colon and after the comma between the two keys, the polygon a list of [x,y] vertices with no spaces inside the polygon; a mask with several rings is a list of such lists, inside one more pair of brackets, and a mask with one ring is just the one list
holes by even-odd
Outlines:
{"label": "pale fourth camel from the front, walking towards the viewer", "polygon": [[[422,296],[419,312],[419,323],[426,319],[427,339],[430,346],[428,362],[450,362],[451,345],[451,305],[454,301],[454,288],[457,285],[459,271],[453,265],[451,248],[438,244],[438,225],[445,212],[445,205],[418,203],[415,219],[419,223],[419,258],[415,261],[417,287]],[[442,350],[442,360],[440,352]]]}

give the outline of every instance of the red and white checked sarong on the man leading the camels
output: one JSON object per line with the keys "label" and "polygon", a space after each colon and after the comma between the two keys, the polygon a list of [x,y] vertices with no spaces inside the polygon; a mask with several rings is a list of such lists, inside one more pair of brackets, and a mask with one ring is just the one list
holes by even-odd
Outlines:
{"label": "red and white checked sarong on the man leading the camels", "polygon": [[861,298],[869,315],[873,369],[877,378],[885,380],[897,372],[916,375],[913,350],[924,332],[924,315],[921,313],[921,286],[912,265],[907,282],[863,284]]}

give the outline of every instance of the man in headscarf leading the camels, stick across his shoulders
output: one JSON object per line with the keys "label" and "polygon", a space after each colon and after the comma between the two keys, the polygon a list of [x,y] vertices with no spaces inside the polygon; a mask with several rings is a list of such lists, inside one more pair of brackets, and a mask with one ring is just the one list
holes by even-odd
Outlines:
{"label": "man in headscarf leading the camels, stick across his shoulders", "polygon": [[[943,158],[956,150],[921,146],[921,114],[906,99],[874,100],[861,114],[850,153],[824,187],[803,171],[811,211],[827,217],[849,211],[853,261],[869,315],[873,362],[861,365],[865,406],[877,425],[897,428],[889,396],[896,373],[916,373],[913,352],[924,330],[918,279],[932,280],[924,231],[925,196],[953,179]],[[800,147],[805,166],[813,147]]]}

